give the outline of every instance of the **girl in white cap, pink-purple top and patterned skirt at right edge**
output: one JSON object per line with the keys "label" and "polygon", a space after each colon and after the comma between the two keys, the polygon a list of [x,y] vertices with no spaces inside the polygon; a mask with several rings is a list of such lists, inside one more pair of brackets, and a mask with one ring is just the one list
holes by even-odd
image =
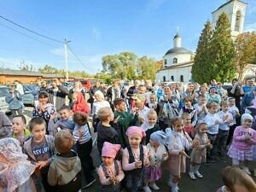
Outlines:
{"label": "girl in white cap, pink-purple top and patterned skirt at right edge", "polygon": [[241,126],[236,127],[228,152],[233,166],[241,166],[247,174],[251,174],[247,166],[248,161],[253,160],[253,144],[256,144],[256,131],[251,128],[252,123],[252,115],[248,113],[241,115]]}

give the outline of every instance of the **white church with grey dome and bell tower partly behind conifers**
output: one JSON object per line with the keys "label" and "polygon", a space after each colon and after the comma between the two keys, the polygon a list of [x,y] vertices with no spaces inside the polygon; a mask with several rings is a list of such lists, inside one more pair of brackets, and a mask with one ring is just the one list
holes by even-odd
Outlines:
{"label": "white church with grey dome and bell tower partly behind conifers", "polygon": [[[230,30],[233,39],[243,32],[247,3],[240,0],[229,0],[212,12],[212,27],[216,26],[219,15],[223,12],[230,20]],[[173,48],[163,56],[163,68],[156,73],[157,82],[185,82],[192,81],[191,69],[194,64],[193,53],[182,47],[179,32],[173,38]],[[254,68],[256,69],[256,68]]]}

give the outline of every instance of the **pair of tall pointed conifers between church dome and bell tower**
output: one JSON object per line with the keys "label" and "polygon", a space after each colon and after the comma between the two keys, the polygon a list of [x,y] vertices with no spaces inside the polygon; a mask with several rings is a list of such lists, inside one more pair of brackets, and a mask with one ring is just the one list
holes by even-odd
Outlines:
{"label": "pair of tall pointed conifers between church dome and bell tower", "polygon": [[236,74],[234,66],[235,48],[231,38],[230,23],[224,13],[219,16],[213,32],[210,21],[207,21],[201,32],[192,77],[198,83],[216,79],[221,82],[230,81]]}

